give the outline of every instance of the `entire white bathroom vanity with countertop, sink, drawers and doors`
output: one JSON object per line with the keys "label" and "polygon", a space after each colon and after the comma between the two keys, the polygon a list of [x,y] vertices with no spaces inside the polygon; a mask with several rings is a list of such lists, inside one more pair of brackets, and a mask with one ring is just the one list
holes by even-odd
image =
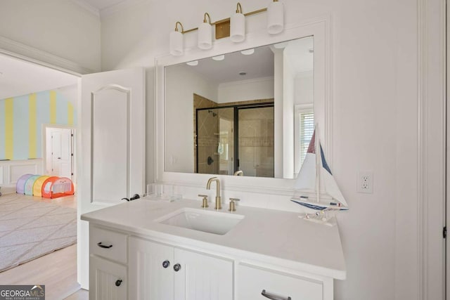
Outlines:
{"label": "entire white bathroom vanity with countertop, sink, drawers and doors", "polygon": [[293,212],[135,200],[89,221],[89,299],[333,299],[338,226]]}

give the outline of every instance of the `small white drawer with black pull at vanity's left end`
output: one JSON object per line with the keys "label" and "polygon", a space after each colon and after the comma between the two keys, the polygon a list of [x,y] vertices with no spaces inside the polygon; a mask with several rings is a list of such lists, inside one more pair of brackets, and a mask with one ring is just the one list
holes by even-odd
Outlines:
{"label": "small white drawer with black pull at vanity's left end", "polygon": [[127,239],[124,233],[91,226],[89,228],[89,248],[91,254],[102,256],[120,263],[127,263]]}

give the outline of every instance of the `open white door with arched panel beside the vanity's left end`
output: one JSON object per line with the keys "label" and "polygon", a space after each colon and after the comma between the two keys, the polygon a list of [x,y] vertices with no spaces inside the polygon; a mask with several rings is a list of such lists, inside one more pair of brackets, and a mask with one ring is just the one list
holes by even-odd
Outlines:
{"label": "open white door with arched panel beside the vanity's left end", "polygon": [[[145,72],[143,68],[84,75],[79,101],[78,214],[143,194]],[[78,221],[78,281],[89,289],[89,226]]]}

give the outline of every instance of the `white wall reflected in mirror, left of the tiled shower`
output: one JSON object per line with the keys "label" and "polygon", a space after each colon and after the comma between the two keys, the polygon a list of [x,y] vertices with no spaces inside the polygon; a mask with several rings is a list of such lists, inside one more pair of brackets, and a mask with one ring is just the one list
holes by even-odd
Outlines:
{"label": "white wall reflected in mirror, left of the tiled shower", "polygon": [[177,137],[166,141],[166,170],[193,173],[193,93],[217,102],[217,84],[190,72],[187,65],[167,67],[165,79],[166,134]]}

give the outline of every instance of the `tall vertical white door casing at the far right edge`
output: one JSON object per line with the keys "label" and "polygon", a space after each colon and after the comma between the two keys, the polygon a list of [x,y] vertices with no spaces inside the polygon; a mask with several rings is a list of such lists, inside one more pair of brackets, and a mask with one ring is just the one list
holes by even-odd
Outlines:
{"label": "tall vertical white door casing at the far right edge", "polygon": [[418,299],[444,299],[446,0],[418,1]]}

